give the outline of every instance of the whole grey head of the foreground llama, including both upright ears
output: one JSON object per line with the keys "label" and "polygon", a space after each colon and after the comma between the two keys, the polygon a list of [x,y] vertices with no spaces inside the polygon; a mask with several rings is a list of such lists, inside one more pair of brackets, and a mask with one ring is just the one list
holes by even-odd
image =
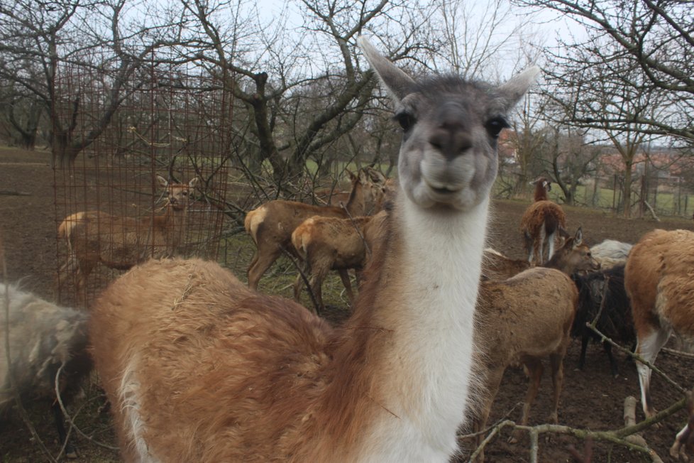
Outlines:
{"label": "whole grey head of the foreground llama, including both upright ears", "polygon": [[419,207],[470,209],[489,195],[497,173],[497,138],[538,67],[500,86],[457,76],[416,81],[359,38],[368,62],[395,100],[403,131],[398,175]]}

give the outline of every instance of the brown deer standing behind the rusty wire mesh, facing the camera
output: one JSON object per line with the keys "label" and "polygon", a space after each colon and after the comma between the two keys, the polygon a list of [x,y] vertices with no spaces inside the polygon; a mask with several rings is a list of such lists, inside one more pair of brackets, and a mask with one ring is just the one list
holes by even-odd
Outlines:
{"label": "brown deer standing behind the rusty wire mesh, facing the camera", "polygon": [[[137,219],[97,210],[76,212],[61,222],[58,233],[69,242],[68,249],[77,261],[74,271],[78,276],[78,292],[99,264],[128,270],[147,258],[172,256],[177,252],[187,225],[189,195],[198,178],[188,183],[169,183],[157,175],[157,180],[167,193],[163,215]],[[70,261],[64,268],[70,268]]]}

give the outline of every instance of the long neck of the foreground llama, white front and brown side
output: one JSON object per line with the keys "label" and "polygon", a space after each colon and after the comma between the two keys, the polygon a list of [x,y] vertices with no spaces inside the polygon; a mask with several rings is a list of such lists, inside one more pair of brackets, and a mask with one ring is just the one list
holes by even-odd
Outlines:
{"label": "long neck of the foreground llama, white front and brown side", "polygon": [[380,290],[367,284],[370,307],[356,309],[370,311],[369,320],[360,320],[361,313],[355,318],[373,329],[364,330],[372,339],[362,339],[371,349],[370,365],[353,375],[371,375],[359,381],[370,384],[378,404],[356,459],[446,461],[456,450],[470,388],[487,217],[488,202],[451,213],[400,199]]}

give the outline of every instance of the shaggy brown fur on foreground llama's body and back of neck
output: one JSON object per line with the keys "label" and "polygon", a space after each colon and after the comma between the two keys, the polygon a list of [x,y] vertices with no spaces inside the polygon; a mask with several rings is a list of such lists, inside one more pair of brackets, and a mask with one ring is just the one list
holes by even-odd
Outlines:
{"label": "shaggy brown fur on foreground llama's body and back of neck", "polygon": [[[139,437],[161,461],[348,460],[359,424],[384,413],[374,371],[384,368],[378,352],[392,333],[368,327],[388,323],[373,307],[385,248],[400,240],[386,239],[382,226],[387,246],[376,246],[355,314],[339,330],[197,259],[150,261],[107,288],[90,334],[123,459],[138,457],[138,437],[125,431],[138,425],[136,413],[145,422]],[[397,294],[397,280],[390,287]]]}

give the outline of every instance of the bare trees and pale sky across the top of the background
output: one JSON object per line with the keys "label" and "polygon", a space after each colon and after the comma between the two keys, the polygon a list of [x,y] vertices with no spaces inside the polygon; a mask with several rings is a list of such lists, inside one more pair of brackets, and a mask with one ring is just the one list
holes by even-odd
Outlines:
{"label": "bare trees and pale sky across the top of the background", "polygon": [[[573,34],[549,41],[548,11]],[[69,165],[153,70],[184,69],[233,96],[234,161],[277,192],[350,162],[392,169],[400,134],[356,49],[365,34],[414,74],[502,80],[538,62],[544,79],[519,107],[502,172],[514,195],[548,173],[571,203],[605,145],[621,156],[624,192],[652,146],[690,156],[693,24],[670,0],[295,0],[272,12],[246,0],[10,0],[0,4],[0,138],[48,146]],[[86,110],[79,94],[65,99],[66,69],[101,89],[88,130],[65,116]]]}

